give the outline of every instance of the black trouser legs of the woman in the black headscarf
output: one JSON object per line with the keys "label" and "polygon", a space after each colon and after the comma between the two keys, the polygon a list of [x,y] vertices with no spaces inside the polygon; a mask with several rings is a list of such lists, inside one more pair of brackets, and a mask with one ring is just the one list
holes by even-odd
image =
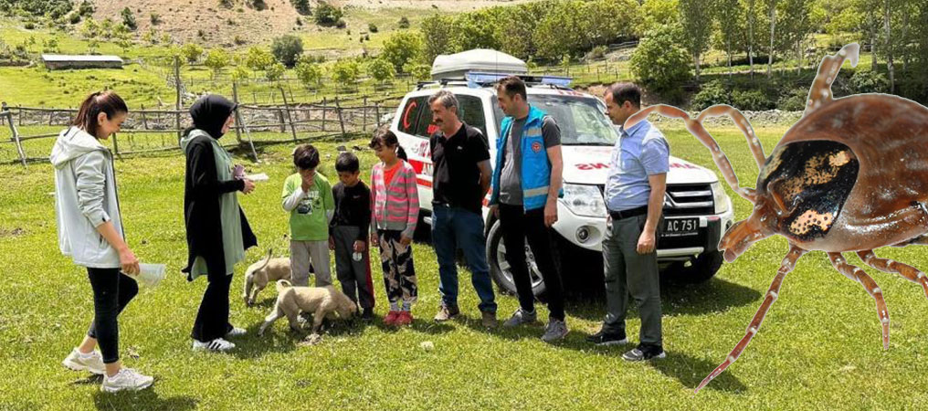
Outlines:
{"label": "black trouser legs of the woman in the black headscarf", "polygon": [[232,275],[207,276],[210,283],[203,292],[203,301],[200,302],[200,311],[193,322],[193,331],[190,337],[194,340],[207,342],[226,337],[232,330],[229,324],[229,284]]}

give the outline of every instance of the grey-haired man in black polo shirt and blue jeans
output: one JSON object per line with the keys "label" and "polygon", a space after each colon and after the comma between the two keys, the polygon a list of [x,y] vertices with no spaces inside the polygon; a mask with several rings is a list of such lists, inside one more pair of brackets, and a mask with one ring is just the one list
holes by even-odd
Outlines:
{"label": "grey-haired man in black polo shirt and blue jeans", "polygon": [[458,98],[447,90],[429,97],[432,122],[432,245],[438,256],[442,305],[435,321],[447,321],[458,309],[458,248],[470,268],[480,297],[483,327],[496,327],[496,301],[483,237],[483,198],[490,189],[490,150],[480,129],[458,119]]}

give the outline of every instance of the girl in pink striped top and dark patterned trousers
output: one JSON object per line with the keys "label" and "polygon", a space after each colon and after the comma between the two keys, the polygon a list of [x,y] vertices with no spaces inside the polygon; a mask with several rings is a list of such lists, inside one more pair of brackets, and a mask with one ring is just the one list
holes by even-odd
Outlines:
{"label": "girl in pink striped top and dark patterned trousers", "polygon": [[405,326],[412,324],[412,303],[419,293],[412,262],[412,237],[419,221],[416,171],[406,162],[406,151],[389,129],[377,130],[370,148],[381,161],[370,173],[370,244],[380,247],[383,283],[390,301],[390,313],[383,322]]}

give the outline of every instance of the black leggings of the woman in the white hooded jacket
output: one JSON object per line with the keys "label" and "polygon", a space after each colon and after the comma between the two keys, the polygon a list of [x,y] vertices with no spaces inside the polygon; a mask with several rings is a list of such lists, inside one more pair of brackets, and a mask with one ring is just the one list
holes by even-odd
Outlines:
{"label": "black leggings of the woman in the white hooded jacket", "polygon": [[135,279],[119,268],[87,268],[90,287],[94,289],[94,321],[87,336],[96,339],[103,362],[119,361],[119,322],[117,316],[138,294]]}

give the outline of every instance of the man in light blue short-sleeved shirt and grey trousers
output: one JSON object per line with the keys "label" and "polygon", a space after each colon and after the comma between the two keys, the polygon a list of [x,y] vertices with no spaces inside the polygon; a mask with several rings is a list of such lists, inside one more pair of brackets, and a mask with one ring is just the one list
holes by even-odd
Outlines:
{"label": "man in light blue short-sleeved shirt and grey trousers", "polygon": [[622,126],[622,135],[612,149],[605,188],[610,214],[602,240],[606,318],[599,332],[587,340],[597,345],[628,342],[625,313],[630,294],[641,314],[640,341],[622,358],[664,358],[656,242],[663,223],[670,148],[661,131],[647,120],[625,129],[625,121],[641,109],[637,85],[612,84],[605,100],[606,114],[613,124]]}

